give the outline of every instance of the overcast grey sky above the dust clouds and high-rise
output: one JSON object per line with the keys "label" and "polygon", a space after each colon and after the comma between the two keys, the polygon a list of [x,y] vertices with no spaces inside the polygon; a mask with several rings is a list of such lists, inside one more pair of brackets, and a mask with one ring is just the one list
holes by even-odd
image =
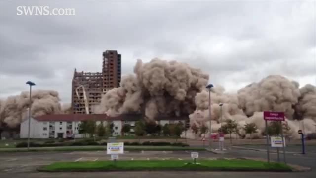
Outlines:
{"label": "overcast grey sky above the dust clouds and high-rise", "polygon": [[[18,16],[18,6],[74,8],[75,16]],[[77,71],[101,72],[102,52],[176,59],[201,68],[227,91],[280,74],[316,85],[315,0],[0,2],[0,98],[36,89],[71,102]]]}

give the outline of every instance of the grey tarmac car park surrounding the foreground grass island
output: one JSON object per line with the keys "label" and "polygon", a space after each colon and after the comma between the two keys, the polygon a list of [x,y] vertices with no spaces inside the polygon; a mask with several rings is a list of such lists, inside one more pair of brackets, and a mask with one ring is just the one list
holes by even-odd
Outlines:
{"label": "grey tarmac car park surrounding the foreground grass island", "polygon": [[[262,147],[258,146],[262,149]],[[208,151],[199,151],[199,158],[237,158],[267,157],[264,151],[245,149],[227,150],[226,154],[214,154]],[[276,153],[271,153],[272,160],[277,160]],[[280,155],[282,161],[283,155]],[[0,153],[0,178],[316,178],[316,154],[299,153],[286,154],[288,163],[311,167],[312,171],[300,173],[271,173],[271,172],[186,172],[186,171],[137,171],[137,172],[38,172],[36,168],[57,161],[100,161],[109,160],[110,155],[105,151],[72,151],[72,152],[17,152]],[[122,160],[168,160],[190,159],[190,151],[125,151],[119,155]]]}

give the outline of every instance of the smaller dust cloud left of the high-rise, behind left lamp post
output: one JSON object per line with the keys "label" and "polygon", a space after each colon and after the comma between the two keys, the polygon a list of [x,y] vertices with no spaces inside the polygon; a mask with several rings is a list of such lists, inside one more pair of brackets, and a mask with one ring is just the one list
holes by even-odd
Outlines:
{"label": "smaller dust cloud left of the high-rise, behind left lamp post", "polygon": [[[57,91],[35,90],[31,96],[33,117],[44,114],[67,113],[70,106],[62,109]],[[15,128],[28,116],[27,110],[30,105],[29,91],[23,91],[20,95],[10,96],[0,101],[0,129],[5,126]]]}

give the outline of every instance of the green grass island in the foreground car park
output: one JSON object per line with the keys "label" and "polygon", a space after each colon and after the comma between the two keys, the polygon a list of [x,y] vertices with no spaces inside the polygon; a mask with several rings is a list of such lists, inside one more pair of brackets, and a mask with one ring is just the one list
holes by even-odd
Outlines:
{"label": "green grass island in the foreground car park", "polygon": [[157,161],[95,161],[56,162],[39,171],[140,171],[140,170],[200,170],[200,171],[291,171],[287,165],[254,160],[157,160]]}

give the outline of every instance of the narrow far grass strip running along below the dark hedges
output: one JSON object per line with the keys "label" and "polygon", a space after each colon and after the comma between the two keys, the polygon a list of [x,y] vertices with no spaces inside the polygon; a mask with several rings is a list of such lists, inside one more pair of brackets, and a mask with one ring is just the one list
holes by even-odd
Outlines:
{"label": "narrow far grass strip running along below the dark hedges", "polygon": [[[63,146],[63,147],[37,147],[37,148],[1,148],[0,152],[27,152],[27,151],[105,151],[106,146]],[[203,151],[205,148],[179,147],[179,146],[124,146],[126,151]]]}

